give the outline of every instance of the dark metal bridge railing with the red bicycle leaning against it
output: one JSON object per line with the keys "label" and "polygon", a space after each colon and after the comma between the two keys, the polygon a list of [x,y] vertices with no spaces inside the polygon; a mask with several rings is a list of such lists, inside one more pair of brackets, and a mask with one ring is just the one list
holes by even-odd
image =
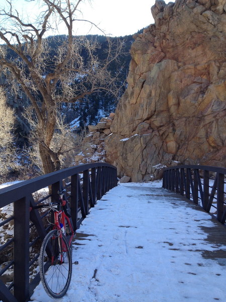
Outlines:
{"label": "dark metal bridge railing with the red bicycle leaning against it", "polygon": [[30,206],[48,199],[56,201],[59,189],[66,188],[65,197],[76,230],[96,200],[115,186],[117,169],[106,163],[93,163],[1,189],[0,300],[25,302],[40,280],[35,271],[42,240],[50,229],[51,216],[42,210],[30,212]]}

